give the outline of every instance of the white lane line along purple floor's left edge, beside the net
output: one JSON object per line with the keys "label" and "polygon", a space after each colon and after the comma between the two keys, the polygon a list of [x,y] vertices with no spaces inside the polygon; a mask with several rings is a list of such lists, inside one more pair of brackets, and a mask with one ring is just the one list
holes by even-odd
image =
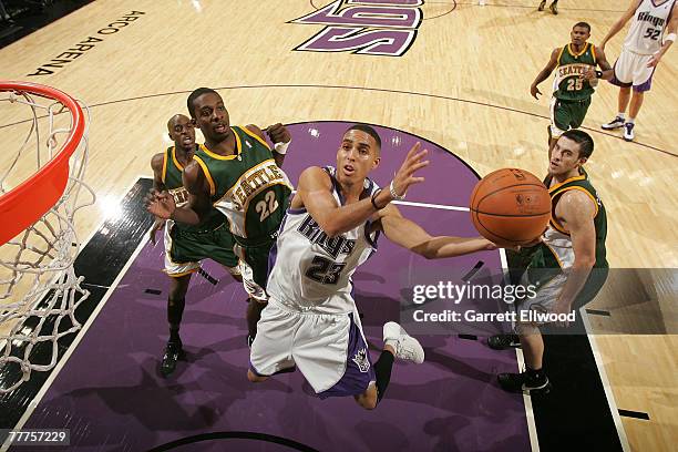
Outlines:
{"label": "white lane line along purple floor's left edge, beside the net", "polygon": [[[119,202],[122,202],[125,198],[125,196],[127,196],[127,194],[130,193],[132,187],[134,187],[134,185],[136,185],[136,183],[138,182],[140,178],[148,178],[148,177],[147,176],[138,176],[136,178],[136,181],[134,181],[134,183],[129,186],[127,191],[123,193],[123,195],[120,197]],[[82,244],[81,244],[81,251],[86,246],[86,244],[90,243],[92,237],[94,237],[94,235],[106,223],[106,220],[107,220],[107,218],[104,218],[101,222],[101,224],[99,225],[99,227],[96,227],[94,229],[94,232],[92,234],[90,234],[90,236],[88,237],[86,242],[82,242]],[[73,342],[69,346],[69,348],[66,349],[65,353],[63,355],[63,357],[61,357],[61,359],[59,360],[56,366],[54,366],[54,369],[52,369],[52,373],[50,373],[50,376],[44,381],[44,383],[42,383],[42,387],[40,388],[40,391],[38,391],[38,394],[35,394],[33,400],[31,400],[31,402],[27,407],[25,411],[23,412],[23,415],[21,417],[21,419],[19,419],[19,422],[17,422],[17,425],[14,425],[13,430],[20,430],[25,424],[25,422],[29,420],[31,414],[33,414],[33,411],[40,404],[40,401],[42,400],[42,398],[44,397],[47,391],[50,389],[50,387],[52,386],[52,383],[54,382],[54,380],[59,376],[59,372],[61,372],[61,369],[63,369],[63,367],[68,362],[68,360],[71,357],[71,355],[73,355],[73,351],[75,350],[75,348],[78,347],[80,341],[84,338],[85,332],[90,329],[90,327],[94,322],[94,319],[96,318],[96,316],[99,316],[99,312],[103,309],[104,305],[106,304],[106,301],[109,300],[111,295],[113,295],[113,291],[115,290],[115,288],[120,284],[120,280],[125,276],[125,274],[127,273],[127,269],[134,263],[134,260],[136,259],[136,256],[138,256],[138,254],[141,253],[141,250],[143,249],[144,245],[146,245],[147,242],[148,242],[148,234],[144,234],[143,237],[142,237],[141,243],[138,244],[138,246],[136,247],[136,249],[134,250],[134,253],[132,254],[132,256],[130,257],[130,259],[127,260],[125,266],[121,269],[121,271],[115,277],[115,280],[111,285],[111,288],[104,294],[102,299],[99,301],[99,305],[96,305],[96,308],[90,315],[90,317],[88,318],[88,321],[85,322],[85,325],[81,328],[80,331],[78,331],[78,336],[75,337]],[[6,452],[10,448],[10,445],[11,445],[10,444],[10,440],[9,440],[9,436],[8,436],[8,439],[4,441],[4,443],[0,446],[0,452]]]}

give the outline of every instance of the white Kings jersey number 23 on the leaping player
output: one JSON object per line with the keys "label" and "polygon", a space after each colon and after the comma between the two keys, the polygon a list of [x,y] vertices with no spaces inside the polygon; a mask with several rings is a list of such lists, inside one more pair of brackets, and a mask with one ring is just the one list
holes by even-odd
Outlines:
{"label": "white Kings jersey number 23 on the leaping player", "polygon": [[[326,167],[332,179],[332,195],[343,205],[336,171]],[[364,179],[362,197],[377,189]],[[274,260],[266,291],[288,309],[309,314],[346,314],[355,310],[351,276],[377,249],[379,232],[368,234],[370,222],[336,237],[328,237],[305,208],[287,212],[278,239],[270,250]],[[270,268],[270,263],[269,263]]]}

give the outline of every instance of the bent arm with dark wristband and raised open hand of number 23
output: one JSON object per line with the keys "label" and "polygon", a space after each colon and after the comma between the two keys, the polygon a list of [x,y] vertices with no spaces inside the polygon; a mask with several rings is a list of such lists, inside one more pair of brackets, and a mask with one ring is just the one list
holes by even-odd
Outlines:
{"label": "bent arm with dark wristband and raised open hand of number 23", "polygon": [[[427,151],[419,151],[417,143],[408,153],[402,166],[393,177],[393,189],[397,194],[404,194],[412,185],[423,182],[423,177],[415,177],[414,173],[429,164],[423,161]],[[377,210],[386,207],[393,196],[387,187],[371,198],[364,198],[346,206],[338,206],[332,196],[332,183],[329,175],[317,166],[305,170],[299,176],[297,196],[311,217],[330,237],[343,234],[364,223]]]}

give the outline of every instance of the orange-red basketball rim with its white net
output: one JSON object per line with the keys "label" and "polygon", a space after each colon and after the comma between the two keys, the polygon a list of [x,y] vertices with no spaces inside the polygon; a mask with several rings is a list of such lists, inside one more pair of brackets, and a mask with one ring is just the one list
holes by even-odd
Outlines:
{"label": "orange-red basketball rim with its white net", "polygon": [[88,107],[59,90],[0,81],[0,129],[20,144],[0,162],[0,393],[52,369],[59,339],[81,328],[75,309],[90,294],[73,270],[73,217],[94,203],[82,181],[86,123]]}

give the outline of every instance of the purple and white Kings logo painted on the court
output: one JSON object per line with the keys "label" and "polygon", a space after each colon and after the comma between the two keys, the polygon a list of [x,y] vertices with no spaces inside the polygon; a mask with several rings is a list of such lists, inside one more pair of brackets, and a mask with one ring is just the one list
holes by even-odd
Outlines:
{"label": "purple and white Kings logo painted on the court", "polygon": [[289,23],[326,25],[295,48],[310,52],[403,55],[417,39],[423,0],[337,0]]}

